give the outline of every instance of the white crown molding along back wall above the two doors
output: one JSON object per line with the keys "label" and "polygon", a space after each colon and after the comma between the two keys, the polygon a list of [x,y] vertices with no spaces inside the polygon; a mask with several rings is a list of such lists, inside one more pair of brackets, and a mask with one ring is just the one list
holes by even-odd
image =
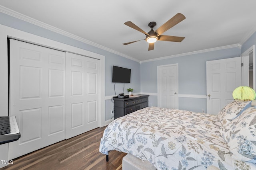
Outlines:
{"label": "white crown molding along back wall above the two doors", "polygon": [[222,46],[222,47],[216,47],[216,48],[211,48],[211,49],[204,49],[204,50],[199,50],[199,51],[193,51],[193,52],[188,52],[188,53],[182,53],[182,54],[177,54],[177,55],[170,55],[170,56],[166,56],[166,57],[160,57],[160,58],[157,58],[157,59],[144,60],[144,61],[140,61],[140,63],[170,59],[170,58],[174,58],[174,57],[182,57],[182,56],[192,55],[192,54],[207,53],[207,52],[210,52],[210,51],[230,49],[230,48],[235,48],[235,47],[241,48],[241,45],[240,44],[226,45],[226,46]]}

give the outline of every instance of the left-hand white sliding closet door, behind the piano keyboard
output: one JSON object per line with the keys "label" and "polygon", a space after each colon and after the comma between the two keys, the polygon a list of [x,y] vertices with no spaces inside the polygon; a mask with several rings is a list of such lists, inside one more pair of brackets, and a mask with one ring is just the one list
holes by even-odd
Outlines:
{"label": "left-hand white sliding closet door, behind the piano keyboard", "polygon": [[65,52],[10,39],[9,160],[65,139]]}

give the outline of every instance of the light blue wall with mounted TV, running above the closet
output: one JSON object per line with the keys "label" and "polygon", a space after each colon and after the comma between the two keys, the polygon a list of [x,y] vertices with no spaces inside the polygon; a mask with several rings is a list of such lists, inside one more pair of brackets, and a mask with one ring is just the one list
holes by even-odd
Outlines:
{"label": "light blue wall with mounted TV, running above the closet", "polygon": [[[58,41],[64,44],[72,45],[74,47],[78,47],[87,51],[92,51],[94,53],[98,53],[105,56],[105,96],[114,96],[114,83],[112,83],[112,66],[121,66],[125,68],[130,68],[131,71],[131,83],[126,83],[124,85],[124,93],[127,93],[127,88],[133,88],[134,92],[140,92],[140,63],[127,59],[125,57],[121,57],[114,53],[110,53],[98,47],[94,47],[92,45],[88,45],[86,43],[77,41],[70,37],[66,37],[59,33],[50,31],[48,29],[39,27],[37,25],[33,25],[23,20],[19,20],[12,16],[8,16],[4,13],[0,12],[0,24],[6,25],[8,27],[12,27],[15,29],[19,29],[21,31],[25,31],[28,33],[32,33],[34,35],[38,35],[40,37],[45,37],[48,39],[52,39],[54,41]],[[7,41],[7,40],[6,40]],[[116,93],[122,93],[123,84],[116,84]],[[110,100],[105,101],[105,120],[109,120],[112,115],[110,114],[110,110],[112,109],[113,104]]]}

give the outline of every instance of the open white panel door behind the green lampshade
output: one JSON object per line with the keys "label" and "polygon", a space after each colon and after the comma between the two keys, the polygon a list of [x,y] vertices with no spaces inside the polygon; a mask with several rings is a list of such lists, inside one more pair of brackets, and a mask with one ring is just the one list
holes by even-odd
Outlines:
{"label": "open white panel door behind the green lampshade", "polygon": [[241,57],[206,61],[207,113],[218,112],[232,102],[233,90],[242,85]]}

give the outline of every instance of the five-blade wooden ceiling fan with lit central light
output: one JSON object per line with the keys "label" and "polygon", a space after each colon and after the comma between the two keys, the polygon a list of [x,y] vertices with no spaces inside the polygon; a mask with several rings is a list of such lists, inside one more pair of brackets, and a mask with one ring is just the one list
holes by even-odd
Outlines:
{"label": "five-blade wooden ceiling fan with lit central light", "polygon": [[[156,41],[181,42],[185,37],[162,35],[162,33],[167,31],[168,29],[170,29],[174,25],[180,23],[185,18],[186,17],[183,14],[178,13],[174,17],[172,17],[170,20],[168,20],[166,23],[164,23],[162,26],[160,26],[158,29],[156,29],[156,31],[153,30],[154,26],[156,26],[156,22],[150,22],[150,23],[148,23],[148,26],[151,28],[151,30],[148,33],[143,31],[142,29],[140,29],[137,25],[135,25],[131,21],[127,21],[124,24],[133,28],[133,29],[136,29],[137,31],[140,31],[140,32],[142,32],[146,35],[145,39],[140,39],[140,40],[137,40],[137,41],[146,40],[149,43],[148,51],[150,51],[150,50],[154,49],[154,43]],[[123,43],[123,45],[128,45],[128,44],[131,44],[131,43],[135,43],[137,41],[132,41],[132,42],[129,42],[129,43]]]}

